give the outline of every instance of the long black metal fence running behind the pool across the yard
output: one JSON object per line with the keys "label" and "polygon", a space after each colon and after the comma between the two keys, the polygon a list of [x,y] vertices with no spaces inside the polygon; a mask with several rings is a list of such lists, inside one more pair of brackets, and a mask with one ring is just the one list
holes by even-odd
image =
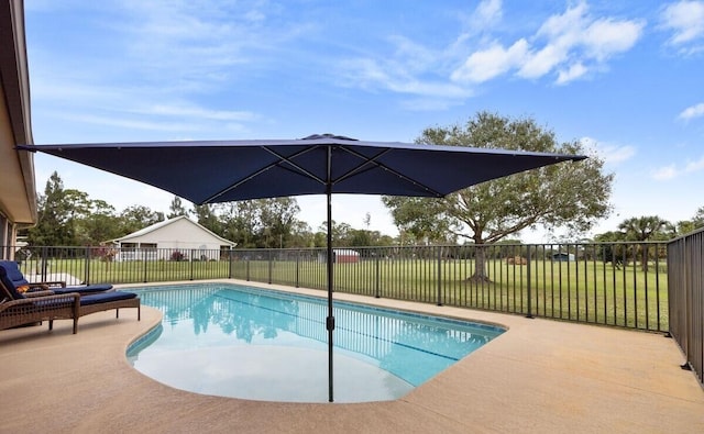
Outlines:
{"label": "long black metal fence running behind the pool across the yard", "polygon": [[[12,251],[23,272],[35,281],[237,278],[327,289],[323,248]],[[670,330],[667,243],[360,247],[336,248],[333,254],[338,292],[653,332]]]}

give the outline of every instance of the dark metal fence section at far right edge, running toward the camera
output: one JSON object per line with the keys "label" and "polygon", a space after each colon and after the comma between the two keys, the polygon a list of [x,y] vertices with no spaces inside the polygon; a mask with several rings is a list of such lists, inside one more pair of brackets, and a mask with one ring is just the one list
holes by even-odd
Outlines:
{"label": "dark metal fence section at far right edge, running toward the camera", "polygon": [[670,334],[704,386],[704,230],[668,244]]}

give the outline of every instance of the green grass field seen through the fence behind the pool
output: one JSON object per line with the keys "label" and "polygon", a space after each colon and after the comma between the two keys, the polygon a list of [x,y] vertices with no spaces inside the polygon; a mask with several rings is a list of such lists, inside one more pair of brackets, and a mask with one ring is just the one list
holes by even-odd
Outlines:
{"label": "green grass field seen through the fence behind the pool", "polygon": [[[334,265],[334,290],[369,297],[485,309],[568,321],[668,331],[664,264],[614,267],[595,260],[532,260],[513,265],[487,260],[490,281],[468,279],[473,259],[363,259]],[[22,265],[41,274],[40,261]],[[324,261],[51,259],[50,274],[65,272],[91,283],[135,283],[237,278],[292,287],[327,289]]]}

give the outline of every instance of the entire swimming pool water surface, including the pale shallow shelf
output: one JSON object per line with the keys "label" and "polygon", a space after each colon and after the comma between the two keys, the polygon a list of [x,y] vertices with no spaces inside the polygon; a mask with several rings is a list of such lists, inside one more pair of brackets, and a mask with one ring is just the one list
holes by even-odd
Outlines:
{"label": "entire swimming pool water surface, including the pale shallow shelf", "polygon": [[[138,290],[162,324],[130,346],[143,374],[197,393],[327,402],[327,301],[235,285]],[[334,400],[394,400],[503,329],[336,301]]]}

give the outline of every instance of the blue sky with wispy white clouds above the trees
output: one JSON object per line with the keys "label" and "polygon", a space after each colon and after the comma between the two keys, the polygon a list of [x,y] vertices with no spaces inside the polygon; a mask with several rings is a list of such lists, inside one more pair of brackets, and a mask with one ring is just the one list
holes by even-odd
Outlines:
{"label": "blue sky with wispy white clouds above the trees", "polygon": [[[614,213],[691,219],[704,199],[704,1],[25,1],[34,142],[413,142],[479,111],[530,116],[615,174]],[[173,196],[55,157],[37,188],[118,211]],[[298,198],[316,229],[324,198]],[[396,230],[378,197],[333,219]],[[524,241],[549,241],[522,234]],[[587,234],[588,235],[588,234]],[[558,234],[569,236],[569,234]]]}

